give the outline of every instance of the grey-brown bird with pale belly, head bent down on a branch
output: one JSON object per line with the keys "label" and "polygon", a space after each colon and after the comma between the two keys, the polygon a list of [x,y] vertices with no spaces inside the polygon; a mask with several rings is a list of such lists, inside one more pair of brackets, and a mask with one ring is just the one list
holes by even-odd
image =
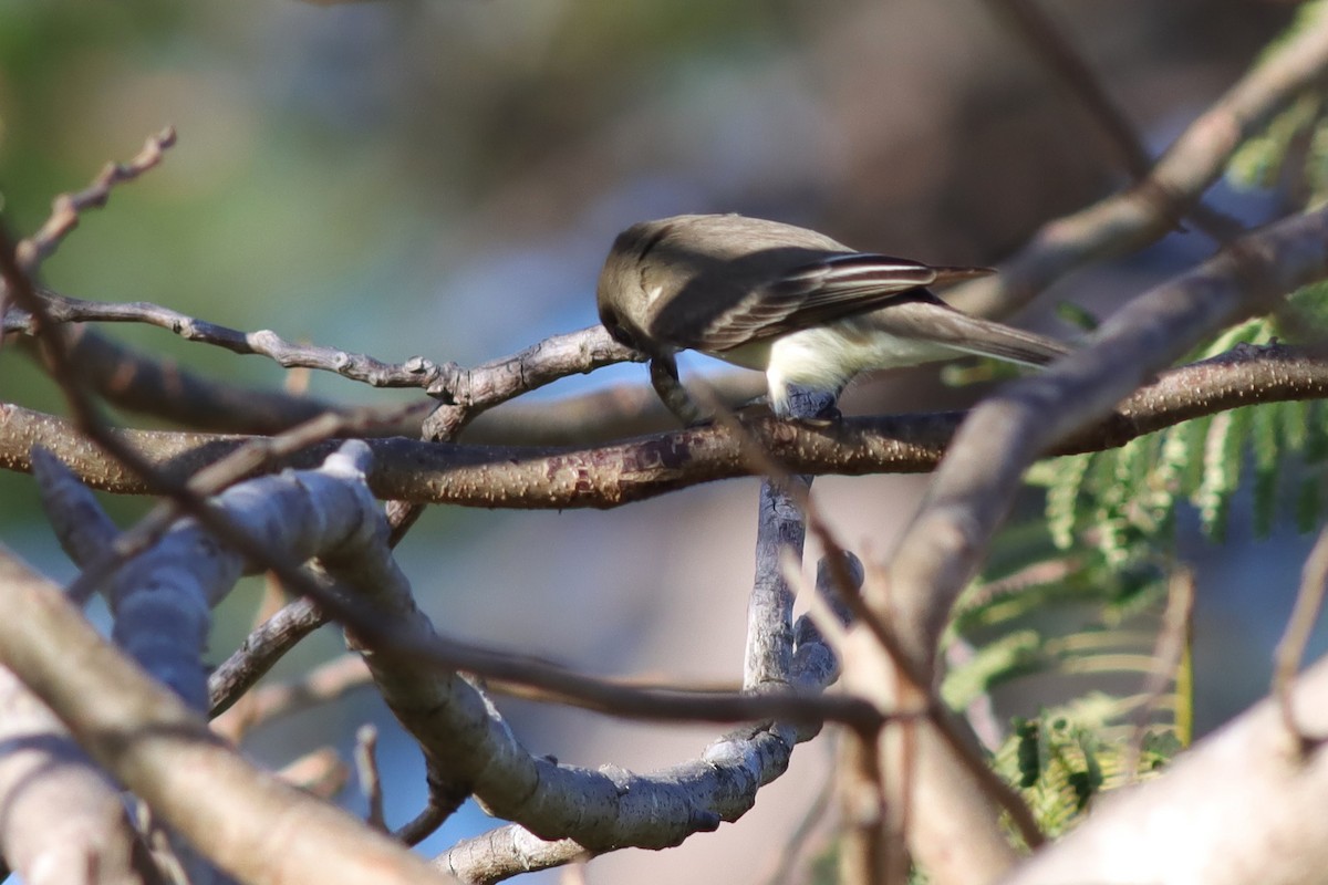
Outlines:
{"label": "grey-brown bird with pale belly, head bent down on a branch", "polygon": [[651,357],[656,389],[684,421],[696,410],[673,354],[687,349],[765,372],[770,405],[786,415],[790,385],[838,394],[870,369],[963,353],[1040,366],[1069,353],[924,288],[988,273],[855,252],[780,222],[677,215],[619,234],[596,300],[610,334]]}

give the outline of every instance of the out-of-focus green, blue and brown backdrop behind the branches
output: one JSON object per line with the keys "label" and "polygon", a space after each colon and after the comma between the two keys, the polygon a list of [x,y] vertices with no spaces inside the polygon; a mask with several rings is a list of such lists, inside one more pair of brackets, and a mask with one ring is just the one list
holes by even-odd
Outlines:
{"label": "out-of-focus green, blue and brown backdrop behind the branches", "polygon": [[[1154,151],[1292,12],[1268,0],[1044,5]],[[989,264],[1126,180],[1094,121],[981,0],[0,3],[0,188],[13,228],[33,231],[52,196],[167,123],[179,142],[165,165],[86,215],[45,283],[388,361],[474,364],[591,325],[608,244],[641,219],[738,211],[863,249]],[[1274,206],[1224,187],[1212,202],[1248,222]],[[1065,281],[1016,321],[1072,334],[1054,318],[1058,300],[1108,312],[1208,248],[1169,238]],[[283,383],[262,358],[154,329],[109,332],[201,372]],[[641,366],[615,366],[538,397],[644,378]],[[311,390],[404,397],[320,375]],[[934,370],[894,373],[857,383],[846,410],[952,407],[977,393]],[[0,352],[0,397],[61,410],[12,348]],[[846,541],[883,553],[924,482],[829,478],[817,490]],[[732,682],[756,488],[724,483],[608,513],[433,508],[400,553],[452,636],[592,673]],[[142,502],[109,506],[127,520]],[[1202,730],[1263,693],[1308,540],[1286,529],[1255,545],[1239,519],[1220,548],[1190,535]],[[25,476],[0,474],[0,541],[53,577],[73,573]],[[246,586],[219,613],[214,659],[248,629],[258,598]],[[320,636],[283,673],[339,650]],[[716,734],[503,709],[531,751],[590,766],[672,764]],[[368,694],[248,748],[274,766],[329,734],[347,750],[363,720],[384,730],[388,816],[400,825],[424,801],[422,766]],[[762,881],[818,791],[826,743],[802,747],[737,825],[606,857],[590,878],[713,878],[724,862],[725,881]],[[347,804],[363,800],[352,791]],[[467,808],[424,851],[487,825]]]}

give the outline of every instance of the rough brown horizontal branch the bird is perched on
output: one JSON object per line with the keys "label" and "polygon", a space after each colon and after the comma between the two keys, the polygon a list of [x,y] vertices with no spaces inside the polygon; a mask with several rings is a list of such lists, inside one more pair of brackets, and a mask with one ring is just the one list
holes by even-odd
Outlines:
{"label": "rough brown horizontal branch the bird is perched on", "polygon": [[[1117,414],[1077,431],[1050,454],[1114,448],[1201,415],[1325,395],[1328,360],[1301,348],[1247,348],[1163,373],[1126,398]],[[748,427],[770,456],[799,474],[926,472],[940,460],[963,418],[964,413],[849,418],[826,427],[765,419]],[[118,433],[175,479],[194,475],[246,439]],[[31,470],[28,450],[33,444],[49,448],[89,486],[120,494],[149,492],[141,478],[81,442],[64,421],[0,405],[0,467]],[[271,467],[311,467],[336,444],[313,446]],[[753,472],[741,441],[714,426],[595,448],[507,448],[400,438],[368,444],[374,452],[369,483],[380,498],[470,507],[608,508]]]}

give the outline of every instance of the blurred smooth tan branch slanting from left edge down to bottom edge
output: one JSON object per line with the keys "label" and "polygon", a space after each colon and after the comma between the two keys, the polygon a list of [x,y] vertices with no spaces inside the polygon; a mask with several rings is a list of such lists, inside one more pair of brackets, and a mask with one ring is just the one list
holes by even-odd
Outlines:
{"label": "blurred smooth tan branch slanting from left edge down to bottom edge", "polygon": [[3,551],[0,584],[9,614],[0,618],[0,662],[222,869],[244,882],[454,881],[345,812],[254,770],[97,636],[58,588]]}

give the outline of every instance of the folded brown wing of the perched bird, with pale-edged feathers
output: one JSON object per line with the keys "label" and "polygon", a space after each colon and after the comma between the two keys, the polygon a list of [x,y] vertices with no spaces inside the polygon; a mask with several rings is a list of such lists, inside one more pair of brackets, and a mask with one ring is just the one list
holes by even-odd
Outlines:
{"label": "folded brown wing of the perched bird, with pale-edged feathers", "polygon": [[992,273],[988,268],[930,267],[888,255],[850,253],[794,267],[753,287],[695,330],[688,346],[722,352],[884,306],[924,285]]}

